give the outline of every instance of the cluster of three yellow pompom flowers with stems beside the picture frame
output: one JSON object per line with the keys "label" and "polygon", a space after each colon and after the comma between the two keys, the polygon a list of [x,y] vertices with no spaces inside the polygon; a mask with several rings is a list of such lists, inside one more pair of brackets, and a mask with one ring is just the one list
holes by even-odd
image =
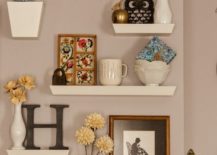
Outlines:
{"label": "cluster of three yellow pompom flowers with stems beside the picture frame", "polygon": [[94,148],[97,148],[97,155],[100,153],[108,154],[113,151],[114,143],[108,135],[96,137],[97,129],[102,129],[104,126],[104,117],[98,113],[91,113],[86,117],[84,126],[76,131],[76,140],[85,146],[86,155],[88,146],[91,146],[91,155],[93,155]]}

